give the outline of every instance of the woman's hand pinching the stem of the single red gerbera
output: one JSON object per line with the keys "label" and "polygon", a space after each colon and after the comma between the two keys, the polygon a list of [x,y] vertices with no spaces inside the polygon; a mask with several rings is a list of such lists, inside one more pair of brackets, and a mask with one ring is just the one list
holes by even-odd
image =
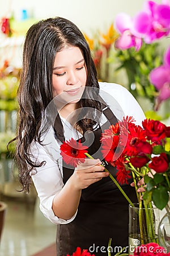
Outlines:
{"label": "woman's hand pinching the stem of the single red gerbera", "polygon": [[109,173],[104,171],[99,159],[85,159],[80,163],[72,175],[72,183],[77,189],[87,188],[92,183],[108,177]]}

